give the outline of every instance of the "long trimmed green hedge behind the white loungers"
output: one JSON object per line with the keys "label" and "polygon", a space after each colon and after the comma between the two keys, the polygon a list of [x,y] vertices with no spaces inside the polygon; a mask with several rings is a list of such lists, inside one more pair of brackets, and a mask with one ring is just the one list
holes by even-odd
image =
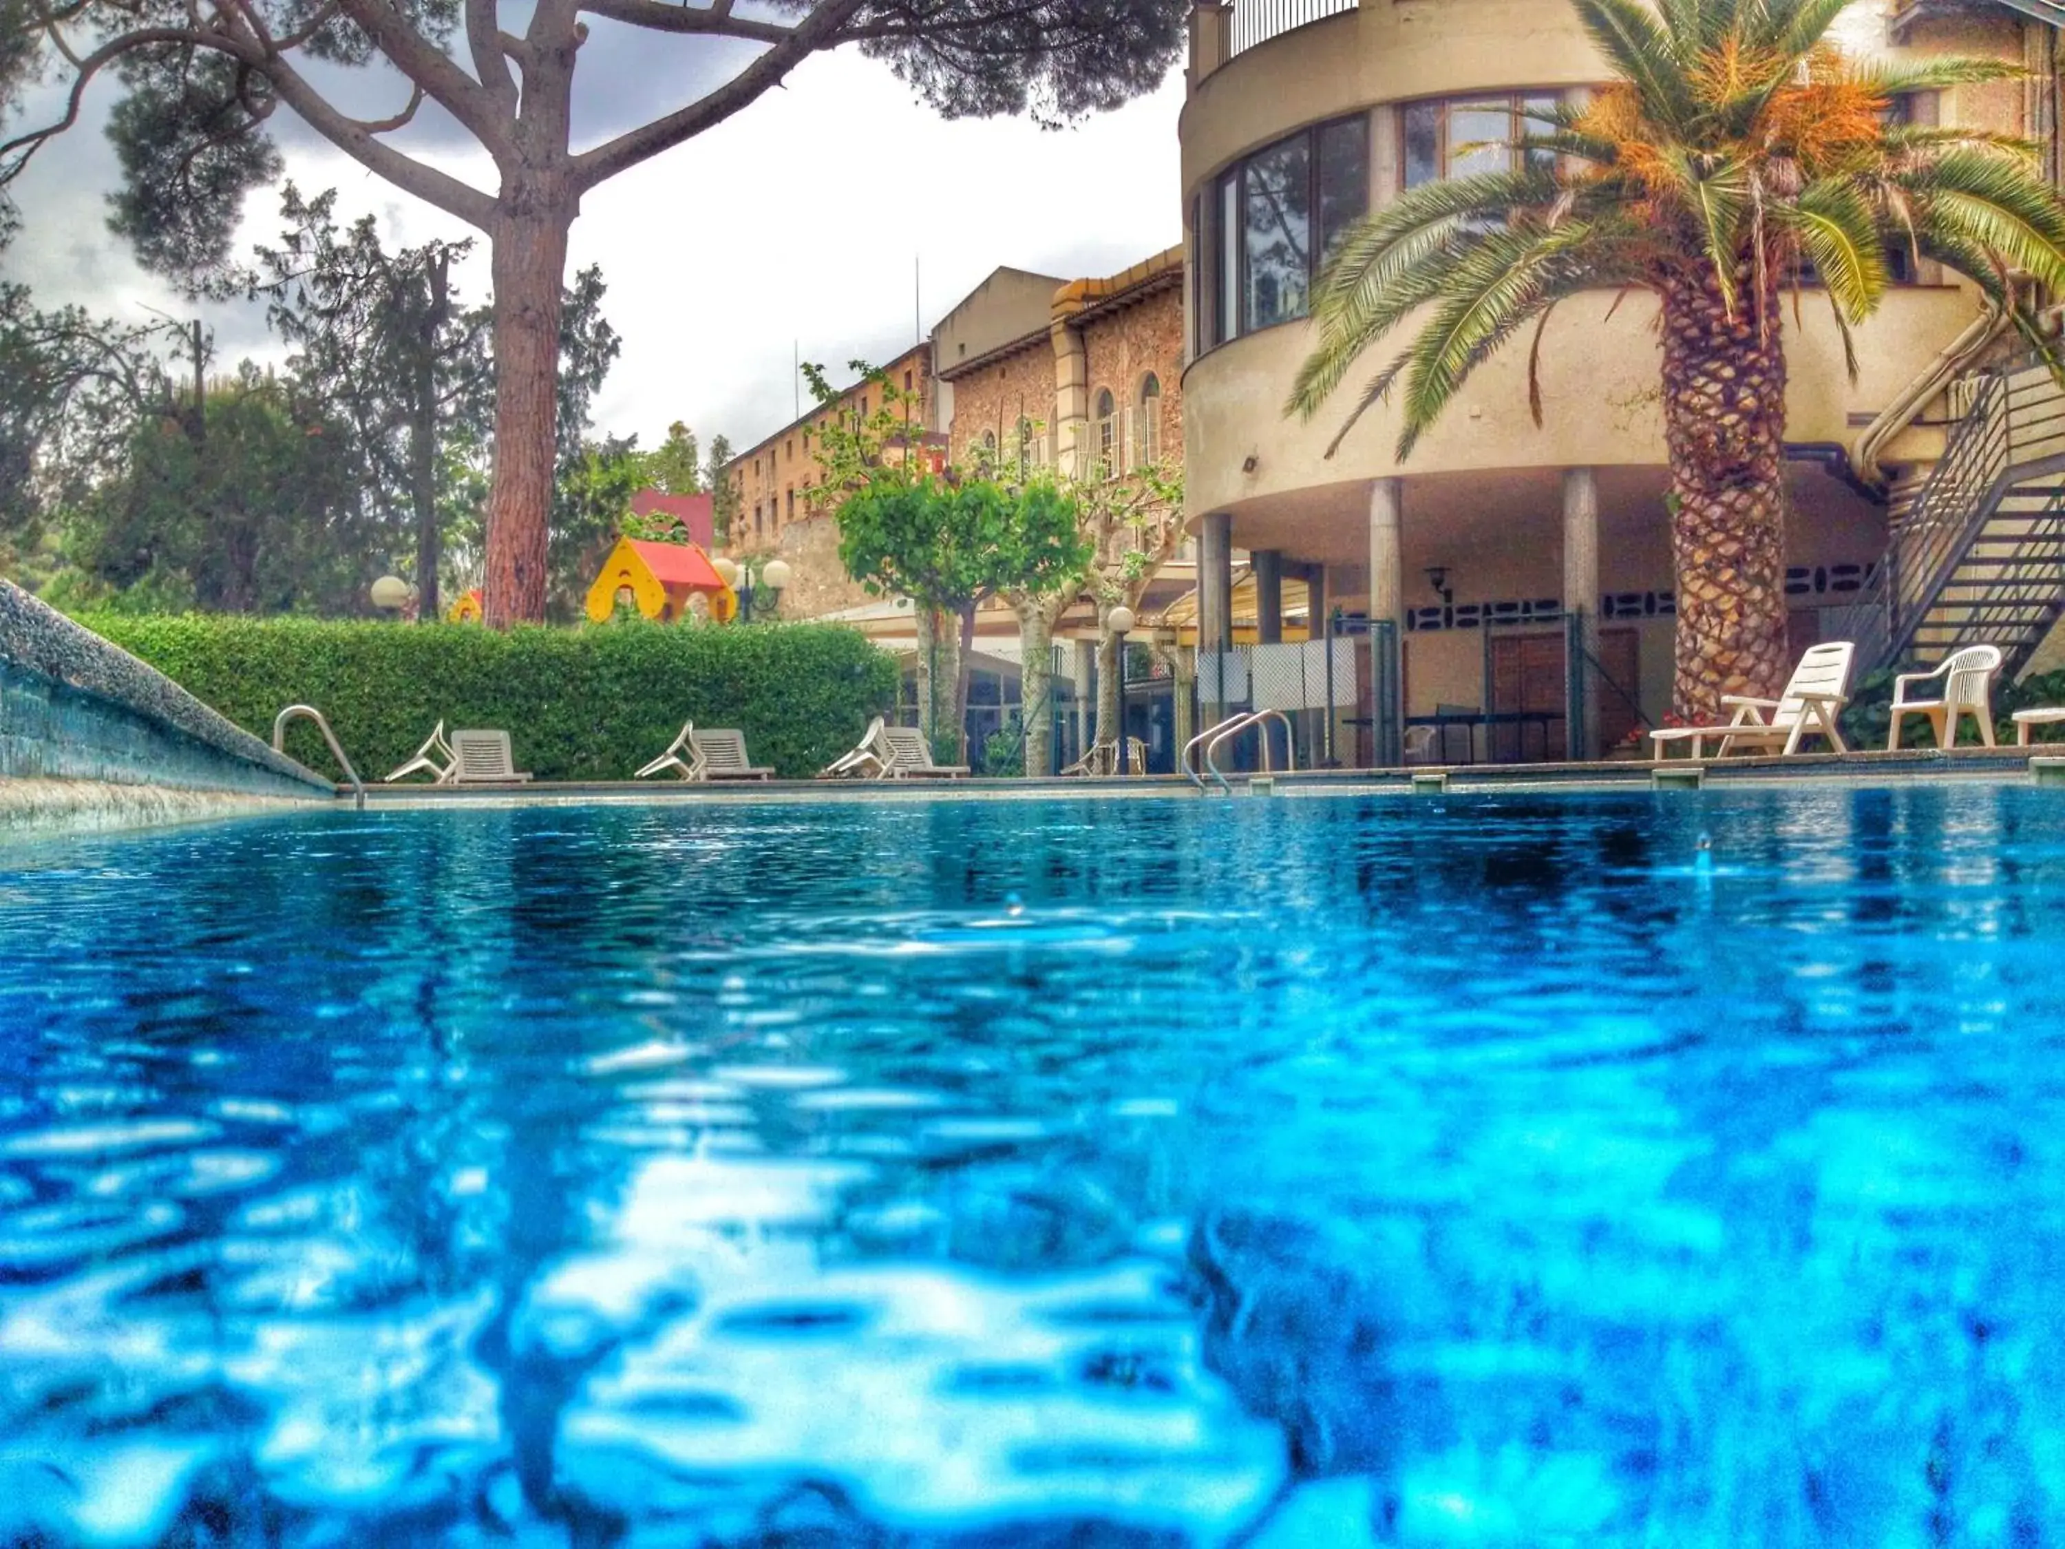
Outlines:
{"label": "long trimmed green hedge behind the white loungers", "polygon": [[[896,696],[896,661],[824,624],[508,634],[198,613],[89,613],[81,624],[260,737],[271,739],[281,706],[314,704],[368,781],[409,758],[438,721],[504,727],[516,768],[541,781],[622,781],[690,719],[739,727],[756,764],[801,779],[847,752]],[[306,721],[287,731],[287,752],[337,768]]]}

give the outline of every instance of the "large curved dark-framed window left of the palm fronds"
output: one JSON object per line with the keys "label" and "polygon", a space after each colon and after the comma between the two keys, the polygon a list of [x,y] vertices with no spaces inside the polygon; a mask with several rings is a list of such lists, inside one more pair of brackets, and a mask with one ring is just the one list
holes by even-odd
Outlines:
{"label": "large curved dark-framed window left of the palm fronds", "polygon": [[1303,318],[1326,256],[1369,213],[1367,120],[1320,124],[1258,151],[1212,184],[1200,213],[1200,343]]}

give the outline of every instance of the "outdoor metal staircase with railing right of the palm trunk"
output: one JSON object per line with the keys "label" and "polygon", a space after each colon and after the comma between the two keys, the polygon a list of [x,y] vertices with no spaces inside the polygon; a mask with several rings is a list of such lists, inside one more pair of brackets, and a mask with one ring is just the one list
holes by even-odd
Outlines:
{"label": "outdoor metal staircase with railing right of the palm trunk", "polygon": [[2013,675],[2065,613],[2065,388],[2042,366],[1964,378],[1941,461],[1896,492],[1858,655],[1937,663],[1997,644]]}

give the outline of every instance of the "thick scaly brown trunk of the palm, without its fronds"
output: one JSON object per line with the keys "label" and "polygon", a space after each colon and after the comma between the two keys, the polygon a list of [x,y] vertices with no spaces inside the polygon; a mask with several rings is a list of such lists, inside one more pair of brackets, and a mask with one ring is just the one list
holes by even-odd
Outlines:
{"label": "thick scaly brown trunk of the palm, without its fronds", "polygon": [[1664,287],[1664,444],[1677,568],[1675,708],[1722,717],[1722,694],[1786,682],[1786,357],[1774,279],[1745,262],[1735,316],[1710,266]]}

